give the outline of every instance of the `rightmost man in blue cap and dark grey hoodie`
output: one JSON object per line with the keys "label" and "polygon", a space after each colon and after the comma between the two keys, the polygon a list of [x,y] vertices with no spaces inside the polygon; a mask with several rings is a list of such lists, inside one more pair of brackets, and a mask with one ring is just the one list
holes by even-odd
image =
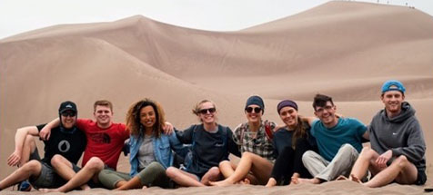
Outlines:
{"label": "rightmost man in blue cap and dark grey hoodie", "polygon": [[380,187],[393,181],[423,185],[426,180],[426,143],[415,110],[405,100],[405,87],[397,80],[382,86],[385,109],[373,117],[368,127],[371,148],[365,147],[350,173],[361,182],[369,170],[372,179],[363,183]]}

